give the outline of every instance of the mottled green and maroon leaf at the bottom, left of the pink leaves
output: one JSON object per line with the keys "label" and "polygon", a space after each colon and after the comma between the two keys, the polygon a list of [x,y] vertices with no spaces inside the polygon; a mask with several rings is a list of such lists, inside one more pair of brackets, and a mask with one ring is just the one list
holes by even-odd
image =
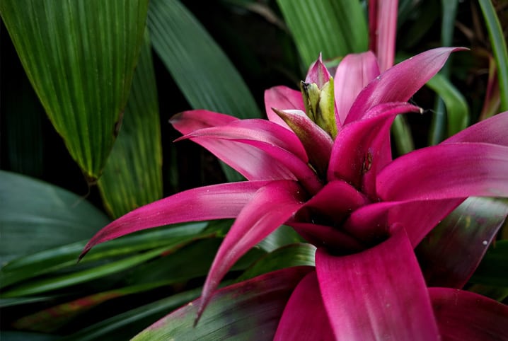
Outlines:
{"label": "mottled green and maroon leaf at the bottom, left of the pink leaves", "polygon": [[200,299],[158,320],[132,340],[272,340],[287,299],[311,270],[290,267],[219,289],[194,328]]}

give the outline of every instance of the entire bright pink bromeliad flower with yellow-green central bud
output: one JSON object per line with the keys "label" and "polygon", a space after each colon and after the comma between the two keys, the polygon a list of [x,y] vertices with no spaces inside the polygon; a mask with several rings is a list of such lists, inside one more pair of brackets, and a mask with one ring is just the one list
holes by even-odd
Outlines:
{"label": "entire bright pink bromeliad flower with yellow-green central bud", "polygon": [[[286,224],[316,245],[316,267],[291,294],[276,340],[441,340],[456,331],[454,309],[477,322],[461,335],[475,335],[496,323],[481,318],[485,309],[507,316],[506,306],[427,288],[413,249],[467,197],[508,196],[508,112],[395,159],[390,144],[396,115],[422,111],[408,100],[455,50],[429,50],[381,74],[371,52],[350,54],[335,77],[320,58],[301,91],[266,91],[268,120],[207,110],[175,115],[181,139],[204,146],[247,181],[136,209],[99,231],[83,254],[154,226],[235,218],[209,270],[200,314],[231,266]],[[439,316],[432,308],[459,298]],[[475,310],[473,302],[487,308]]]}

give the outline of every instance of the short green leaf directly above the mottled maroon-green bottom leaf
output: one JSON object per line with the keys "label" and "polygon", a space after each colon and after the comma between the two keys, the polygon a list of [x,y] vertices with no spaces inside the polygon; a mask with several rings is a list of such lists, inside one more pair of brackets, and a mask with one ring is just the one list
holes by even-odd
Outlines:
{"label": "short green leaf directly above the mottled maroon-green bottom leaf", "polygon": [[243,272],[238,281],[243,281],[260,274],[283,269],[284,267],[297,267],[301,265],[314,266],[316,247],[308,243],[299,243],[283,246],[267,253],[260,258],[246,272]]}

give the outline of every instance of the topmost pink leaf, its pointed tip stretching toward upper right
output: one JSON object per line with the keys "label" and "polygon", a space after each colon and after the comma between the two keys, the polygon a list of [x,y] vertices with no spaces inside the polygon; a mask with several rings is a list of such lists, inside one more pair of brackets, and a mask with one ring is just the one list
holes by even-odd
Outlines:
{"label": "topmost pink leaf, its pointed tip stretching toward upper right", "polygon": [[439,47],[417,54],[376,77],[359,93],[347,114],[345,124],[362,118],[369,108],[387,102],[407,102],[443,67],[458,47]]}

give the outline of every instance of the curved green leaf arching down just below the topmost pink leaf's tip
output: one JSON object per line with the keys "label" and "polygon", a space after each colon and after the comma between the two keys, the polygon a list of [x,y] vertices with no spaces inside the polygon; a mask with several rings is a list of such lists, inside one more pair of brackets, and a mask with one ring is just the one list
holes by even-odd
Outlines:
{"label": "curved green leaf arching down just below the topmost pink leaf's tip", "polygon": [[[432,77],[427,82],[427,86],[439,95],[446,106],[446,137],[451,137],[451,135],[466,129],[470,119],[469,105],[460,91],[442,74],[436,74]],[[441,123],[435,122],[438,119],[439,117],[434,117],[432,144],[441,142],[442,136],[439,131],[444,132],[444,127],[439,127]]]}

